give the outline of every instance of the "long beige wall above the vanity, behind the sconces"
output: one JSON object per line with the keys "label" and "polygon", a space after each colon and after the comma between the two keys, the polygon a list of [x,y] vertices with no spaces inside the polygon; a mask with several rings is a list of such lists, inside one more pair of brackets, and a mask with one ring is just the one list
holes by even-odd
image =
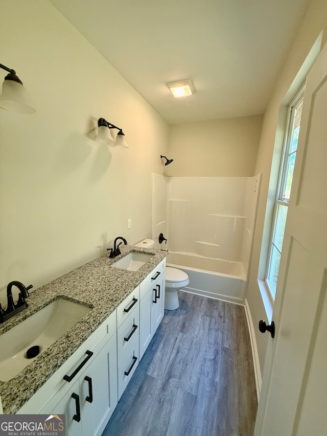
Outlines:
{"label": "long beige wall above the vanity, behind the sconces", "polygon": [[[1,18],[0,62],[36,107],[0,109],[5,303],[11,280],[37,288],[106,253],[116,236],[151,236],[151,173],[163,172],[169,126],[47,0],[1,0]],[[130,149],[93,140],[100,117],[124,129]]]}

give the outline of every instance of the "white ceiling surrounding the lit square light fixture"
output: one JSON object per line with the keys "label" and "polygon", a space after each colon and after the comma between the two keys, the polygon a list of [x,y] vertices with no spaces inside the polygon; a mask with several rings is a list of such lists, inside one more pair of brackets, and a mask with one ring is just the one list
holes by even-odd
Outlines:
{"label": "white ceiling surrounding the lit square light fixture", "polygon": [[[51,0],[170,124],[264,113],[310,0]],[[191,78],[175,99],[167,82]]]}

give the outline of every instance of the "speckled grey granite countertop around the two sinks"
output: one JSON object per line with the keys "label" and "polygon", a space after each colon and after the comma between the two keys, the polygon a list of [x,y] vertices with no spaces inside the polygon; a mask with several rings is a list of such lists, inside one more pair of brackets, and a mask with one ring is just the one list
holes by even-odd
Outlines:
{"label": "speckled grey granite countertop around the two sinks", "polygon": [[[4,414],[15,414],[167,256],[166,251],[132,245],[124,245],[120,248],[122,254],[114,259],[110,259],[106,254],[31,291],[27,299],[29,307],[0,324],[0,334],[3,334],[58,297],[92,308],[14,378],[6,382],[0,381]],[[152,253],[154,256],[137,271],[110,267],[129,251]]]}

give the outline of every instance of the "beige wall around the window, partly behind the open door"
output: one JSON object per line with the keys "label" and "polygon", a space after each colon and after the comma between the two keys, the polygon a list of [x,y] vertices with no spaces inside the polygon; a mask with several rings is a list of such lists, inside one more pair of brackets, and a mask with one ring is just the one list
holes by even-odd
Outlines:
{"label": "beige wall around the window, partly behind the open door", "polygon": [[[262,172],[263,178],[247,293],[247,300],[254,326],[258,325],[260,319],[267,319],[258,285],[258,278],[264,279],[264,265],[266,263],[265,248],[267,238],[269,238],[268,227],[271,217],[271,205],[275,195],[274,180],[276,178],[276,172],[278,172],[276,165],[272,164],[279,158],[280,153],[278,149],[282,147],[286,105],[294,96],[301,82],[305,79],[306,65],[302,69],[301,66],[305,63],[321,30],[323,30],[322,47],[327,39],[327,2],[325,0],[313,0],[299,28],[293,47],[287,56],[284,68],[278,77],[263,120],[258,158],[254,170],[255,173]],[[309,61],[312,63],[312,59],[309,59]],[[276,146],[275,149],[274,146]],[[261,251],[262,247],[263,251]],[[262,259],[260,265],[261,253]],[[268,335],[261,334],[258,329],[256,329],[255,332],[261,372],[263,372]]]}

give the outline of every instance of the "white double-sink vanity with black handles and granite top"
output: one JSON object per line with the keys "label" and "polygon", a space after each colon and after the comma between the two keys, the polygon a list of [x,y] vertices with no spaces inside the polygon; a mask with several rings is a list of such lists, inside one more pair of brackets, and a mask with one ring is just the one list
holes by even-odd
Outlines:
{"label": "white double-sink vanity with black handles and granite top", "polygon": [[[136,270],[113,267],[130,252],[151,256]],[[100,435],[164,315],[166,255],[125,245],[118,258],[102,256],[32,292],[0,333],[58,298],[91,310],[0,382],[4,413],[64,413],[67,435]]]}

